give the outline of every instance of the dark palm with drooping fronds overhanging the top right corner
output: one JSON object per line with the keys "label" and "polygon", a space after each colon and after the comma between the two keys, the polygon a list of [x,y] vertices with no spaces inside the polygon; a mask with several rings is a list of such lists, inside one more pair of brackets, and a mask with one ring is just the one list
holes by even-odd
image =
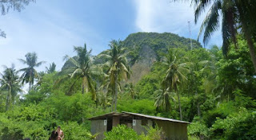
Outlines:
{"label": "dark palm with drooping fronds overhanging the top right corner", "polygon": [[[194,2],[194,21],[198,22],[198,17],[210,6],[206,18],[202,22],[198,38],[203,33],[203,42],[207,44],[214,31],[222,26],[222,51],[226,55],[230,49],[230,40],[237,47],[236,34],[242,33],[246,38],[250,49],[250,57],[256,72],[256,56],[254,41],[256,39],[256,2],[241,0],[191,0]],[[219,18],[222,18],[220,20]]]}

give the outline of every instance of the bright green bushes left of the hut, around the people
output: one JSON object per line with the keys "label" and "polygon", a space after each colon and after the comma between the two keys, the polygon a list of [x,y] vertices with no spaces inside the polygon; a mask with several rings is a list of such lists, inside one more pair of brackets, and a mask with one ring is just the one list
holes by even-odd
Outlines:
{"label": "bright green bushes left of the hut, around the people", "polygon": [[38,104],[15,106],[0,115],[0,139],[47,139],[57,124],[62,126],[66,139],[89,138],[90,121],[82,123],[82,117],[105,113],[93,105],[90,95],[74,94],[52,95]]}

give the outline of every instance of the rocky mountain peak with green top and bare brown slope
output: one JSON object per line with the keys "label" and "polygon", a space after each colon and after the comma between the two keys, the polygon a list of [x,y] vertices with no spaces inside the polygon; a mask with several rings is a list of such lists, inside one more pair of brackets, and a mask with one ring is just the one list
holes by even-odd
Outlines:
{"label": "rocky mountain peak with green top and bare brown slope", "polygon": [[[198,41],[192,42],[194,48],[202,47]],[[170,48],[190,49],[190,39],[173,33],[132,33],[122,43],[131,52],[128,60],[132,75],[128,83],[133,84],[150,72],[152,64],[162,57],[162,52]]]}

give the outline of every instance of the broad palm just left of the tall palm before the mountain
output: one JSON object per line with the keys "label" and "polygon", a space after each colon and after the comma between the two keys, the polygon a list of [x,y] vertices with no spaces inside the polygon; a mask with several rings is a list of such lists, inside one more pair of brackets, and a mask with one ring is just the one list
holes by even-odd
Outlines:
{"label": "broad palm just left of the tall palm before the mountain", "polygon": [[77,52],[77,56],[70,57],[68,55],[64,56],[64,60],[67,60],[66,63],[69,63],[68,66],[62,68],[61,74],[65,74],[62,80],[71,78],[73,84],[71,84],[70,89],[73,88],[73,85],[76,84],[79,80],[82,80],[82,94],[84,92],[90,91],[92,93],[92,99],[96,99],[94,80],[92,79],[92,74],[97,73],[94,66],[92,65],[92,58],[90,56],[90,51],[87,51],[86,44],[84,47],[74,46],[74,52]]}

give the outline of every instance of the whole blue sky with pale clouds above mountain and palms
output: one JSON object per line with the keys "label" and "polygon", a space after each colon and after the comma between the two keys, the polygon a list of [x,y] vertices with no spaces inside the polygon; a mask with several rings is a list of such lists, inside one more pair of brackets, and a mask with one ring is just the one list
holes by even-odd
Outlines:
{"label": "whole blue sky with pale clouds above mountain and palms", "polygon": [[[197,39],[200,23],[194,25],[193,15],[189,3],[170,0],[38,0],[21,13],[0,16],[0,29],[7,34],[0,38],[0,65],[26,67],[17,59],[37,52],[38,60],[46,61],[38,71],[53,61],[59,70],[63,56],[74,56],[73,46],[86,42],[96,55],[108,49],[112,39],[124,40],[130,33],[170,32],[190,37],[187,21],[191,21],[192,38]],[[222,45],[220,32],[214,33],[210,45]]]}

